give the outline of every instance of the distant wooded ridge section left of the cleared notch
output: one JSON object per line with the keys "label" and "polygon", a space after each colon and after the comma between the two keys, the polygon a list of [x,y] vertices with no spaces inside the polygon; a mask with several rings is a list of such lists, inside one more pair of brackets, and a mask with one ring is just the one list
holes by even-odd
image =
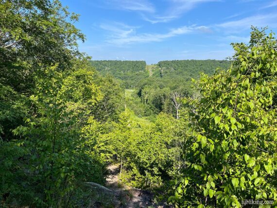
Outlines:
{"label": "distant wooded ridge section left of the cleared notch", "polygon": [[145,61],[91,61],[91,64],[102,75],[121,79],[125,88],[137,87],[140,80],[149,76]]}

